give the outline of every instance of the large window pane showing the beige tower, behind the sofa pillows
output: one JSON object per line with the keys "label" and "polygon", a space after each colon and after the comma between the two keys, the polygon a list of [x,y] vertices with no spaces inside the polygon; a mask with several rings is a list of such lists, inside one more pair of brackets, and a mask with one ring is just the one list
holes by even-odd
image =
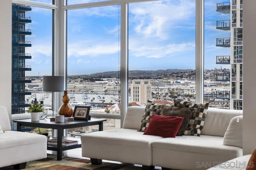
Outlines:
{"label": "large window pane showing the beige tower, behind the sofa pillows", "polygon": [[129,104],[195,102],[195,0],[129,4],[128,42]]}

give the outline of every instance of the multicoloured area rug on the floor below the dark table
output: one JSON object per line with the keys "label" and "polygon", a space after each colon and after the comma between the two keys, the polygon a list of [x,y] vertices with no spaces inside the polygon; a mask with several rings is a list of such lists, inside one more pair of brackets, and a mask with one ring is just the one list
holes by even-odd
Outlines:
{"label": "multicoloured area rug on the floor below the dark table", "polygon": [[[156,169],[161,169],[160,167]],[[12,170],[11,167],[0,168],[0,170]],[[137,164],[117,164],[102,162],[100,165],[92,165],[89,159],[72,158],[62,156],[57,160],[57,155],[47,154],[47,158],[27,162],[26,170],[142,170]]]}

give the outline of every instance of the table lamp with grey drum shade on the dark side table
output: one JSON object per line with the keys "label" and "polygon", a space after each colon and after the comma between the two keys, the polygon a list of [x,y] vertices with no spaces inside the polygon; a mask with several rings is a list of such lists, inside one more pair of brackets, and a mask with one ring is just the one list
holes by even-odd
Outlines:
{"label": "table lamp with grey drum shade on the dark side table", "polygon": [[54,117],[54,92],[64,91],[64,76],[43,76],[43,91],[52,93],[52,117]]}

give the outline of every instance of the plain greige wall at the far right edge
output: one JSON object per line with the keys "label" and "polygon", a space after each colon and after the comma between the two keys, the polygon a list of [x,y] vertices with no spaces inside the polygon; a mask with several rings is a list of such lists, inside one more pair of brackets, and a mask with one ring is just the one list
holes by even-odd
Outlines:
{"label": "plain greige wall at the far right edge", "polygon": [[256,149],[256,1],[244,0],[243,150]]}

